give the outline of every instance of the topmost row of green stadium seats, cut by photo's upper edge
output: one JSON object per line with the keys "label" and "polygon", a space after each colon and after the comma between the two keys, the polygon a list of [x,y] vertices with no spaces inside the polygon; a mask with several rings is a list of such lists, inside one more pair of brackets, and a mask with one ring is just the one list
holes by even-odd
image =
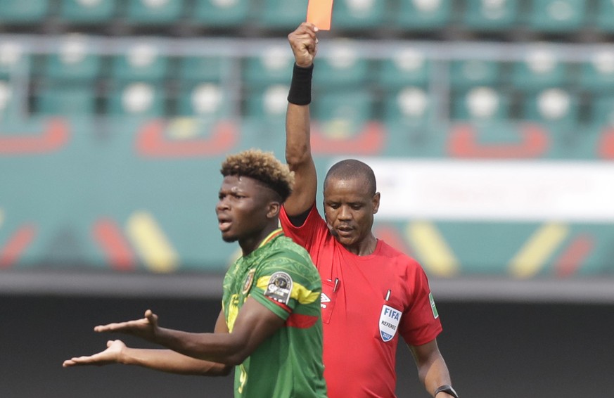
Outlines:
{"label": "topmost row of green stadium seats, cut by photo's upper edge", "polygon": [[[40,23],[185,25],[240,29],[244,25],[288,30],[305,20],[307,0],[0,0],[0,25]],[[467,30],[530,28],[614,32],[610,0],[336,0],[336,29]]]}

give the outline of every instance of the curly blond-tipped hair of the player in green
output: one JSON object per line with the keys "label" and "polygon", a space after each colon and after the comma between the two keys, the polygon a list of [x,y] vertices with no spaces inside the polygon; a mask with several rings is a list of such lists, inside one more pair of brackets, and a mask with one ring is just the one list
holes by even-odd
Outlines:
{"label": "curly blond-tipped hair of the player in green", "polygon": [[288,165],[277,160],[273,153],[259,149],[248,149],[234,155],[228,155],[222,162],[223,176],[246,176],[271,188],[285,202],[292,193],[294,173]]}

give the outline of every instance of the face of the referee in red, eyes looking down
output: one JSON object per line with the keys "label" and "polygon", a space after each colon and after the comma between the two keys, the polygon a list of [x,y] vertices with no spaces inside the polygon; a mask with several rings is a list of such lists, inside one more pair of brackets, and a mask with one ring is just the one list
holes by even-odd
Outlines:
{"label": "face of the referee in red, eyes looking down", "polygon": [[333,236],[348,248],[371,236],[380,195],[371,195],[364,179],[329,178],[324,186],[324,214]]}

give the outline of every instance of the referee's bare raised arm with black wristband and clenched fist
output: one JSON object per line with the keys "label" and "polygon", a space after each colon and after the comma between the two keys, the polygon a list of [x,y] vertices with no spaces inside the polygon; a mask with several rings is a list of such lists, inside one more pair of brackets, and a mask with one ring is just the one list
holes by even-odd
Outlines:
{"label": "referee's bare raised arm with black wristband and clenched fist", "polygon": [[295,68],[286,113],[286,162],[295,173],[295,186],[283,206],[290,216],[306,212],[316,200],[316,167],[309,143],[309,103],[313,63],[317,52],[316,32],[317,28],[313,24],[302,23],[294,32],[288,34]]}

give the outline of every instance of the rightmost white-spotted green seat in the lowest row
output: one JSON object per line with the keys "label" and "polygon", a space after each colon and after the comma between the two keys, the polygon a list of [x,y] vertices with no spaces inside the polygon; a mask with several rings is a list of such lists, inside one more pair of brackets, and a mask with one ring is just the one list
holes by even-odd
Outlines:
{"label": "rightmost white-spotted green seat in the lowest row", "polygon": [[571,128],[578,122],[577,96],[572,92],[552,88],[525,96],[523,118],[556,127]]}

